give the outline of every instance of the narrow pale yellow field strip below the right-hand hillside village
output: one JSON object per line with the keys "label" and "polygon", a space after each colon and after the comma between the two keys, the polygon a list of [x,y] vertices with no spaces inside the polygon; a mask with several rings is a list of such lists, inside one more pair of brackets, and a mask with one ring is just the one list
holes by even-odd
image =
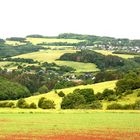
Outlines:
{"label": "narrow pale yellow field strip below the right-hand hillside village", "polygon": [[105,50],[95,50],[95,51],[103,55],[115,55],[115,56],[119,56],[125,59],[134,58],[134,56],[136,56],[136,55],[130,55],[130,54],[113,54],[112,51],[105,51]]}

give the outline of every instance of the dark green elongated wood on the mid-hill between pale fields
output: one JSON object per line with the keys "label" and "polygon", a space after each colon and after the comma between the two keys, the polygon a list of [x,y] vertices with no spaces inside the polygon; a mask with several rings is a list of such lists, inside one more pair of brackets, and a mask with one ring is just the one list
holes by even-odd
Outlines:
{"label": "dark green elongated wood on the mid-hill between pale fields", "polygon": [[116,68],[125,64],[125,60],[118,56],[105,56],[89,50],[77,51],[76,53],[65,53],[60,57],[60,60],[94,63],[100,69]]}

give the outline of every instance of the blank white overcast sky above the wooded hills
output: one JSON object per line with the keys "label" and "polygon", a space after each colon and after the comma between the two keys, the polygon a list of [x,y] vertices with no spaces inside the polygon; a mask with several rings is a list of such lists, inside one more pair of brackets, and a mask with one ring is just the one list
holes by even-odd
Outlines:
{"label": "blank white overcast sky above the wooded hills", "polygon": [[140,0],[0,0],[0,38],[79,33],[140,39]]}

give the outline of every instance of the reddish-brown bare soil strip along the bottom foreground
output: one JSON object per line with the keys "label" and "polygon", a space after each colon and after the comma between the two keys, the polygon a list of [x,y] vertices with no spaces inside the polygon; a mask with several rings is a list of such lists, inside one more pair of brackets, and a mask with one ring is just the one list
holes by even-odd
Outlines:
{"label": "reddish-brown bare soil strip along the bottom foreground", "polygon": [[89,131],[63,134],[13,134],[1,136],[0,140],[140,140],[140,132]]}

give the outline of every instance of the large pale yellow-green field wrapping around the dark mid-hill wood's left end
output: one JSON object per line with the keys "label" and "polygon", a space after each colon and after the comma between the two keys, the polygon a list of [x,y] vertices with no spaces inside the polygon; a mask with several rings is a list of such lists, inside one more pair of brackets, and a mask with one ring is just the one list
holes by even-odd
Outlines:
{"label": "large pale yellow-green field wrapping around the dark mid-hill wood's left end", "polygon": [[39,52],[33,52],[23,55],[18,55],[15,58],[31,58],[34,60],[38,60],[40,62],[55,62],[58,65],[66,65],[73,67],[77,72],[90,72],[90,71],[98,71],[99,69],[93,63],[82,63],[82,62],[73,62],[73,61],[59,61],[57,59],[60,58],[64,53],[74,53],[76,50],[41,50]]}

